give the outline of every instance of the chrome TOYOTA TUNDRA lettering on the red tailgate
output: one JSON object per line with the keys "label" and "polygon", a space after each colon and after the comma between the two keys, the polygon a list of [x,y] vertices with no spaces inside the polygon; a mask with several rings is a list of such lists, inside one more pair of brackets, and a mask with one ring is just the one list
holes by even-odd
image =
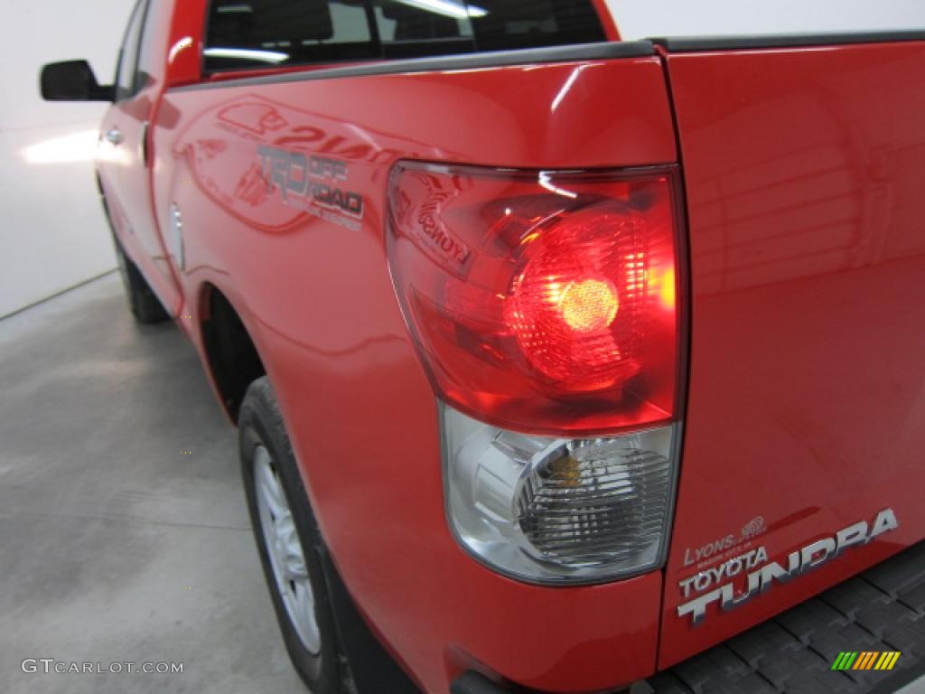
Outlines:
{"label": "chrome TOYOTA TUNDRA lettering on the red tailgate", "polygon": [[867,521],[858,521],[837,531],[833,537],[818,539],[790,552],[785,566],[779,562],[769,564],[764,547],[746,551],[682,580],[678,586],[686,601],[678,605],[678,616],[689,614],[691,625],[697,626],[706,618],[707,608],[713,602],[719,603],[724,612],[734,610],[770,590],[775,581],[786,583],[803,576],[841,556],[849,547],[865,545],[896,527],[893,509],[883,509],[870,525]]}

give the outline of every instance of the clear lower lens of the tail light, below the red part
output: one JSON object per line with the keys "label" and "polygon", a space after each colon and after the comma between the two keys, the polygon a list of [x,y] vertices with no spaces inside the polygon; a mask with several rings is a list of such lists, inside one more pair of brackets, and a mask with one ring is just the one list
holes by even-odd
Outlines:
{"label": "clear lower lens of the tail light, below the red part", "polygon": [[444,407],[450,526],[500,573],[598,583],[659,567],[679,425],[595,439],[495,428]]}

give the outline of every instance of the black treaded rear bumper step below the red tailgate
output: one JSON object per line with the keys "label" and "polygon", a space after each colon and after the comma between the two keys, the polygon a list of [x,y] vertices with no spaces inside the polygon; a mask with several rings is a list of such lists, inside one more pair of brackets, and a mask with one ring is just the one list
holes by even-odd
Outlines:
{"label": "black treaded rear bumper step below the red tailgate", "polygon": [[[898,652],[891,669],[879,656]],[[833,669],[857,653],[848,669]],[[843,658],[847,662],[850,656]],[[857,667],[860,665],[860,667]],[[451,694],[510,694],[474,672]],[[912,694],[925,691],[925,542],[854,576],[792,610],[636,682],[630,694]]]}

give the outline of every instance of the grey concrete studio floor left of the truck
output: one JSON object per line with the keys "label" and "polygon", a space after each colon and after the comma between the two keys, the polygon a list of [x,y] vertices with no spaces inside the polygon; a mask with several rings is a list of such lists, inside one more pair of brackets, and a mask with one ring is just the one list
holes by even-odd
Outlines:
{"label": "grey concrete studio floor left of the truck", "polygon": [[[0,692],[305,692],[235,430],[177,328],[136,327],[117,275],[94,280],[0,320],[0,393]],[[26,674],[27,658],[183,673]]]}

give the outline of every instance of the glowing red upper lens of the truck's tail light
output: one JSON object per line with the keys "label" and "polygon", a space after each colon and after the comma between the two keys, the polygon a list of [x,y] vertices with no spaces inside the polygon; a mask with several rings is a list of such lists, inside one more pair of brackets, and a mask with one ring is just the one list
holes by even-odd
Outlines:
{"label": "glowing red upper lens of the truck's tail light", "polygon": [[438,394],[535,433],[671,420],[674,190],[672,168],[396,167],[389,263]]}

